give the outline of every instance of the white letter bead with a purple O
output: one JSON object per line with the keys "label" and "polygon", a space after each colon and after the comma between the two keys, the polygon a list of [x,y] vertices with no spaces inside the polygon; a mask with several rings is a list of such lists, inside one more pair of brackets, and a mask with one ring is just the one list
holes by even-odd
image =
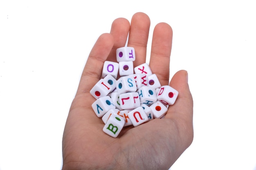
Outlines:
{"label": "white letter bead with a purple O", "polygon": [[105,61],[102,69],[102,78],[110,74],[116,79],[118,70],[119,70],[119,64],[117,62]]}

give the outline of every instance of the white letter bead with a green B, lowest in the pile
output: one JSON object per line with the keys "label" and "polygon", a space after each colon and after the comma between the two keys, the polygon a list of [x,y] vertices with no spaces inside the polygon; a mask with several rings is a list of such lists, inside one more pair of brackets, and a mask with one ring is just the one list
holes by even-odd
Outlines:
{"label": "white letter bead with a green B, lowest in the pile", "polygon": [[103,132],[106,134],[117,137],[124,127],[124,119],[120,119],[115,115],[111,115],[103,127]]}

